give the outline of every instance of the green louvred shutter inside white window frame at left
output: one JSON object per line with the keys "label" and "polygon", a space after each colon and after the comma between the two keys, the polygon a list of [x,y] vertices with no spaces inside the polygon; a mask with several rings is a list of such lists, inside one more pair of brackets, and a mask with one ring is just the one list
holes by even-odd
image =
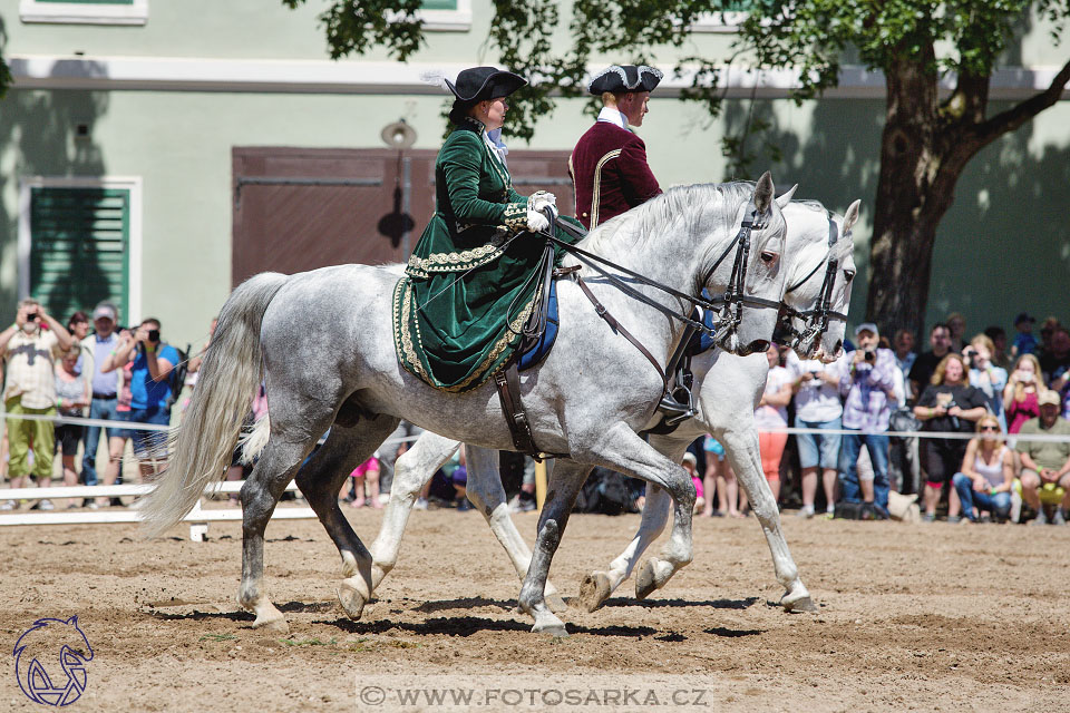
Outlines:
{"label": "green louvred shutter inside white window frame at left", "polygon": [[30,296],[57,320],[101,300],[128,314],[130,192],[35,187],[30,198]]}

